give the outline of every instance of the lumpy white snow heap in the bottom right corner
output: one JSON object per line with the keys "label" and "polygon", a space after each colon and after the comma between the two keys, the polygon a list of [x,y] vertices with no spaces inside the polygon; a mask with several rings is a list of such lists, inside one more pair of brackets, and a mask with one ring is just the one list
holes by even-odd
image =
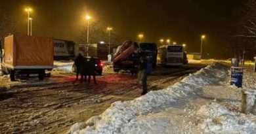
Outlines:
{"label": "lumpy white snow heap in the bottom right corner", "polygon": [[256,124],[244,114],[230,112],[219,103],[203,105],[197,114],[203,120],[199,125],[205,133],[256,133]]}

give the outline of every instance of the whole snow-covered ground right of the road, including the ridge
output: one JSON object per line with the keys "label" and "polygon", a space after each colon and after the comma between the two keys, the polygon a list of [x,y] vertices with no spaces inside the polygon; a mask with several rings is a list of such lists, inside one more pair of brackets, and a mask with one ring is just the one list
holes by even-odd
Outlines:
{"label": "whole snow-covered ground right of the road, including the ridge", "polygon": [[[228,70],[213,63],[169,88],[116,101],[69,133],[256,133],[256,116],[240,113],[242,89],[230,86]],[[244,89],[255,89],[255,80],[246,70]]]}

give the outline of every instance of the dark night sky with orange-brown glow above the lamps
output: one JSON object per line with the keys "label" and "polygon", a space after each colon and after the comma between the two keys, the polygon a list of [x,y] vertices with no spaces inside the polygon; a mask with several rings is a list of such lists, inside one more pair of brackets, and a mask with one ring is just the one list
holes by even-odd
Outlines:
{"label": "dark night sky with orange-brown glow above the lamps", "polygon": [[207,37],[203,53],[228,58],[228,28],[244,0],[1,0],[0,16],[12,12],[18,33],[27,32],[26,7],[32,7],[33,35],[77,40],[85,14],[109,25],[125,39],[144,34],[145,42],[161,38],[186,43],[187,52],[200,52],[200,35]]}

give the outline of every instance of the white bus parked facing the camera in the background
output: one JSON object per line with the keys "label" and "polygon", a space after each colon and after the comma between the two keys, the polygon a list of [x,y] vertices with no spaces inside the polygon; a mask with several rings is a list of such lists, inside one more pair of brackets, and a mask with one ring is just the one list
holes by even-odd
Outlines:
{"label": "white bus parked facing the camera in the background", "polygon": [[160,46],[158,48],[158,65],[181,66],[188,63],[183,46]]}

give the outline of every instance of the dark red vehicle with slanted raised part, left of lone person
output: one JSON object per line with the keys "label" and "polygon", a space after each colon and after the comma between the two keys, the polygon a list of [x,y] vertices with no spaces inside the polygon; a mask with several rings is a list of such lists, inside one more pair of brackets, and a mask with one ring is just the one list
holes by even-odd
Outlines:
{"label": "dark red vehicle with slanted raised part, left of lone person", "polygon": [[125,70],[130,71],[132,75],[137,74],[139,67],[138,48],[139,45],[132,41],[125,41],[121,46],[118,46],[117,52],[114,54],[114,72]]}

